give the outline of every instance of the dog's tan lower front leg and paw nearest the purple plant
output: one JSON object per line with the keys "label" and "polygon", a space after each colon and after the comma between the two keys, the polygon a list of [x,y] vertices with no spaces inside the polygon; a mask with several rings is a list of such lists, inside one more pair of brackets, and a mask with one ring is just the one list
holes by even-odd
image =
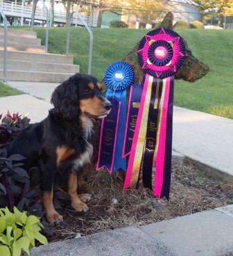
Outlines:
{"label": "dog's tan lower front leg and paw nearest the purple plant", "polygon": [[53,206],[53,191],[42,194],[42,205],[49,223],[60,223],[62,221],[62,216],[55,211]]}

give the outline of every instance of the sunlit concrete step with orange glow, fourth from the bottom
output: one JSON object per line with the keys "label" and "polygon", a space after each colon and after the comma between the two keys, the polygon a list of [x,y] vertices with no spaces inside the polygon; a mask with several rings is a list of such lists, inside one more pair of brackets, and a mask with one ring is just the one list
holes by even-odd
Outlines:
{"label": "sunlit concrete step with orange glow, fourth from the bottom", "polygon": [[[0,40],[0,51],[4,49],[3,42]],[[45,46],[42,45],[22,45],[15,42],[8,42],[8,51],[31,51],[31,52],[45,52]]]}

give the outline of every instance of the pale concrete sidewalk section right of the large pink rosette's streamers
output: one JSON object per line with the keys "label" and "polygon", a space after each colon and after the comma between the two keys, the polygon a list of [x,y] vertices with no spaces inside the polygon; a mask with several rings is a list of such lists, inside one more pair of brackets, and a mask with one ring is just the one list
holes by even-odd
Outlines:
{"label": "pale concrete sidewalk section right of the large pink rosette's streamers", "polygon": [[173,150],[220,179],[232,179],[233,120],[175,106]]}

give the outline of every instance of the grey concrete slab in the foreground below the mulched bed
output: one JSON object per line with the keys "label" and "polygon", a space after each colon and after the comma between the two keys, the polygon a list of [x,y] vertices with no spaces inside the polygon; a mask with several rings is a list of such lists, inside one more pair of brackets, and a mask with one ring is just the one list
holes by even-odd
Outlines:
{"label": "grey concrete slab in the foreground below the mulched bed", "polygon": [[233,205],[31,250],[31,256],[232,256]]}

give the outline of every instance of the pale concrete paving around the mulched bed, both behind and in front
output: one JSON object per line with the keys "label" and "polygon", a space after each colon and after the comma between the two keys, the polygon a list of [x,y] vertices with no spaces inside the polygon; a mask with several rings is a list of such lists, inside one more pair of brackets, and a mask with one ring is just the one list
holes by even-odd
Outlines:
{"label": "pale concrete paving around the mulched bed, both behind and in front", "polygon": [[[28,113],[31,122],[46,117],[52,107],[49,103],[51,93],[58,84],[8,83],[30,95],[0,98],[0,113],[7,110]],[[233,180],[232,131],[233,120],[174,107],[173,153],[195,161],[218,178]],[[31,255],[232,256],[232,237],[233,206],[230,205],[144,227],[128,227],[51,243],[33,249]]]}

